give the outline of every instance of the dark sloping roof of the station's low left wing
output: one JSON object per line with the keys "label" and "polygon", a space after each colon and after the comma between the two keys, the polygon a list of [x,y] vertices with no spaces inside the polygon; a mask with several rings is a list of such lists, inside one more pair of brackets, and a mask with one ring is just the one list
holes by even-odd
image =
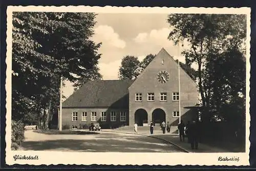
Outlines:
{"label": "dark sloping roof of the station's low left wing", "polygon": [[62,103],[62,108],[129,109],[128,87],[134,80],[93,80],[86,82]]}

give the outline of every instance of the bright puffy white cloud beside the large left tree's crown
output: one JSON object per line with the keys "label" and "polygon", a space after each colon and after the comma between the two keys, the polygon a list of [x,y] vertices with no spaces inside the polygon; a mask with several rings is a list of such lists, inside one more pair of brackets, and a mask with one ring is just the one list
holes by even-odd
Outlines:
{"label": "bright puffy white cloud beside the large left tree's crown", "polygon": [[102,42],[102,46],[112,46],[115,48],[125,48],[126,42],[120,39],[119,34],[114,31],[111,26],[100,25],[95,28],[93,40]]}

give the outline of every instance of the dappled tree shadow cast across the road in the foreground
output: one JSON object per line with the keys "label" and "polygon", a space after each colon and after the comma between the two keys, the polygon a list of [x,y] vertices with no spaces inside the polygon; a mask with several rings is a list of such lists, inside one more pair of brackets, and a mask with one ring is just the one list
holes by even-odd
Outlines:
{"label": "dappled tree shadow cast across the road in the foreground", "polygon": [[25,141],[25,150],[76,152],[181,152],[177,147],[144,136],[95,135],[92,139]]}

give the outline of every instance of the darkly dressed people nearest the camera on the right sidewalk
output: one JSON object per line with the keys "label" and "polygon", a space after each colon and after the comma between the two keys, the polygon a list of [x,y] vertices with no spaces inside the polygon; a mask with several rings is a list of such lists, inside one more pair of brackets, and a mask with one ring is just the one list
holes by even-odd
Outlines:
{"label": "darkly dressed people nearest the camera on the right sidewalk", "polygon": [[183,120],[178,124],[178,130],[180,135],[180,141],[185,141],[185,134],[187,136],[187,142],[191,144],[192,149],[198,149],[199,127],[196,121],[187,124],[183,123]]}

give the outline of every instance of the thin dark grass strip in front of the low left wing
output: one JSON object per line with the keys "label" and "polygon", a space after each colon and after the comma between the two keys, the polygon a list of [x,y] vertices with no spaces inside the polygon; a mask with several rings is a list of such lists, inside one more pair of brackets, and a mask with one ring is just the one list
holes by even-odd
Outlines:
{"label": "thin dark grass strip in front of the low left wing", "polygon": [[91,134],[99,134],[97,132],[89,132],[89,131],[72,131],[72,130],[35,130],[33,131],[39,134],[47,134],[47,135],[91,135]]}

